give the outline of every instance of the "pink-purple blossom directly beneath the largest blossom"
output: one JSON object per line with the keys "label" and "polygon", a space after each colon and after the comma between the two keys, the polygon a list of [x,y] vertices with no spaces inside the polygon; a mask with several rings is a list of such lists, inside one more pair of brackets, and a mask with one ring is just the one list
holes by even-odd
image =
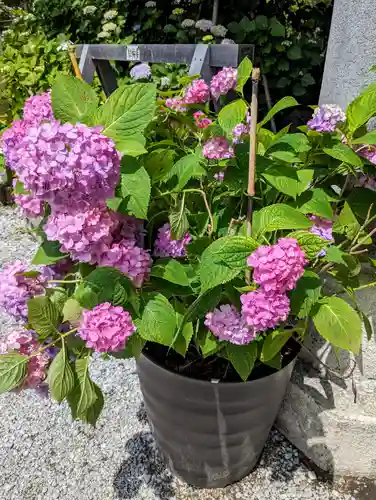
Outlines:
{"label": "pink-purple blossom directly beneath the largest blossom", "polygon": [[112,231],[118,226],[115,212],[104,204],[78,212],[54,211],[44,226],[47,238],[58,241],[61,251],[74,260],[95,264],[112,243]]}

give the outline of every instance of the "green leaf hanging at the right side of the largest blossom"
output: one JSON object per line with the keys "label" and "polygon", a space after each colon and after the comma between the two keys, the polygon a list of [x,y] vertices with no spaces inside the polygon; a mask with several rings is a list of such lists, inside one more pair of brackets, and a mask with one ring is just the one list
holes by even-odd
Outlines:
{"label": "green leaf hanging at the right side of the largest blossom", "polygon": [[147,219],[151,182],[144,167],[122,158],[121,193],[126,199],[126,209],[138,219]]}

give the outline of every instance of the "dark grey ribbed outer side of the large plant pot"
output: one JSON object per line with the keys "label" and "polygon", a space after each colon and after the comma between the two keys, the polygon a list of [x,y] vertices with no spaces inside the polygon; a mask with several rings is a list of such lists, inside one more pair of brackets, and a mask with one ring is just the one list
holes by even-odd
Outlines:
{"label": "dark grey ribbed outer side of the large plant pot", "polygon": [[222,488],[249,474],[293,366],[246,383],[211,383],[177,375],[142,355],[137,369],[146,411],[171,470],[202,488]]}

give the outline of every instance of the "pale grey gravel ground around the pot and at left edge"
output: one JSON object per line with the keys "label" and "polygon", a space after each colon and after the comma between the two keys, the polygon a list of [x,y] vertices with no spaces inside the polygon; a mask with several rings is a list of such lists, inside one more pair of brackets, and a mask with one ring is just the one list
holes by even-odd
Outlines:
{"label": "pale grey gravel ground around the pot and at left edge", "polygon": [[[28,259],[35,242],[17,212],[0,207],[0,265]],[[0,315],[0,335],[12,321]],[[0,500],[362,500],[356,480],[319,481],[304,457],[272,431],[259,466],[222,490],[172,477],[156,449],[133,361],[93,361],[106,404],[96,429],[31,391],[0,397]],[[368,491],[368,490],[367,490]]]}

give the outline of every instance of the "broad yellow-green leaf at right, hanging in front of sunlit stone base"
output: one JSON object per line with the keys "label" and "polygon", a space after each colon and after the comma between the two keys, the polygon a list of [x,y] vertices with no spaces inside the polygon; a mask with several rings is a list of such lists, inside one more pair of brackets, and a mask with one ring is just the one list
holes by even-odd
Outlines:
{"label": "broad yellow-green leaf at right, hanging in front of sunlit stone base", "polygon": [[325,297],[313,315],[313,322],[322,337],[333,345],[359,354],[362,321],[355,310],[339,297]]}

